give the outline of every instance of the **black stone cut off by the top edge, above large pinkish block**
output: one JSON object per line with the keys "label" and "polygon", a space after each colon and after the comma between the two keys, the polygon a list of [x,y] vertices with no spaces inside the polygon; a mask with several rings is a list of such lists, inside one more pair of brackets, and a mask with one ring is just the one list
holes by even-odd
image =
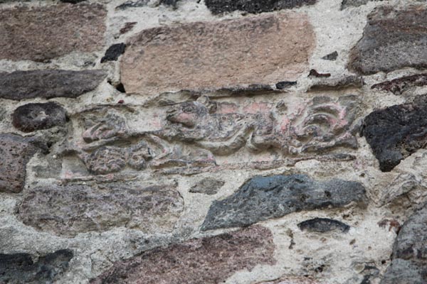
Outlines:
{"label": "black stone cut off by the top edge, above large pinkish block", "polygon": [[245,11],[263,13],[280,9],[292,9],[303,5],[313,5],[317,0],[206,0],[208,9],[214,13]]}

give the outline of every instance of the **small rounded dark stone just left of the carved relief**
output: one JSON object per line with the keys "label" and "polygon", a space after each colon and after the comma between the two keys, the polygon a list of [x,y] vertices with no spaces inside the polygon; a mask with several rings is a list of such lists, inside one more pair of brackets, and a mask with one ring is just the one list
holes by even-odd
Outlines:
{"label": "small rounded dark stone just left of the carved relief", "polygon": [[65,109],[56,102],[46,104],[24,104],[12,114],[12,124],[23,132],[64,126],[67,121]]}

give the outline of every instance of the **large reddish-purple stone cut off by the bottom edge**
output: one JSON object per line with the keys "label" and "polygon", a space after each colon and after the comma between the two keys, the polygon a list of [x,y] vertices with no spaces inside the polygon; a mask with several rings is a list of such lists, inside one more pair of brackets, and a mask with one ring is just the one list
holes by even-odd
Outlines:
{"label": "large reddish-purple stone cut off by the bottom edge", "polygon": [[193,239],[166,249],[145,251],[120,261],[91,284],[223,283],[237,271],[273,265],[273,234],[251,226],[228,234]]}

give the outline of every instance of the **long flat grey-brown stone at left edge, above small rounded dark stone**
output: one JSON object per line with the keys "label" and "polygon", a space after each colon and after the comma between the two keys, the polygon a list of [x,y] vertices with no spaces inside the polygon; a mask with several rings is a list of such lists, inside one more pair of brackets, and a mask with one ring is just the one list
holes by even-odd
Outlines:
{"label": "long flat grey-brown stone at left edge, above small rounded dark stone", "polygon": [[95,89],[106,73],[102,70],[33,70],[0,73],[0,98],[76,98]]}

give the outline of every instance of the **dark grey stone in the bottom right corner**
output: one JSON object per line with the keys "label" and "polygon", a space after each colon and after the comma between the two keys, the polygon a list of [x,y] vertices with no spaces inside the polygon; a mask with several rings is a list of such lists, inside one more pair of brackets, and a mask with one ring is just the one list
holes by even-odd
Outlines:
{"label": "dark grey stone in the bottom right corner", "polygon": [[381,284],[427,283],[427,204],[415,212],[399,231],[393,261]]}

